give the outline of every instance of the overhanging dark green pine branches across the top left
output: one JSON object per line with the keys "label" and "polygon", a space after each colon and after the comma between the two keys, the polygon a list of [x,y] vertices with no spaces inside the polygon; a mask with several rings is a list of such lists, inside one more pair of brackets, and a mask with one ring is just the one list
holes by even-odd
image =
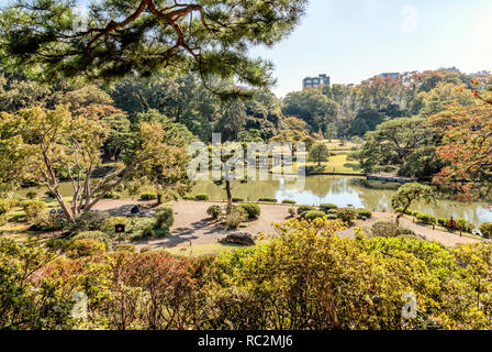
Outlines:
{"label": "overhanging dark green pine branches across the top left", "polygon": [[1,14],[0,55],[9,67],[25,67],[45,80],[167,70],[197,72],[208,85],[209,77],[220,76],[266,87],[272,84],[271,65],[249,58],[246,48],[284,38],[305,6],[306,0],[108,0],[92,3],[87,29],[78,29],[72,1],[18,0]]}

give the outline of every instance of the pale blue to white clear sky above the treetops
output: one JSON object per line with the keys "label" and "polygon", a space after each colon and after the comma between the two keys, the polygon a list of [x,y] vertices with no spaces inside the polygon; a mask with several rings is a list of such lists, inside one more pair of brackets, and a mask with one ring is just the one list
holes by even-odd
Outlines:
{"label": "pale blue to white clear sky above the treetops", "polygon": [[275,64],[279,97],[323,73],[357,84],[385,72],[492,70],[492,1],[310,0],[289,38],[251,54]]}

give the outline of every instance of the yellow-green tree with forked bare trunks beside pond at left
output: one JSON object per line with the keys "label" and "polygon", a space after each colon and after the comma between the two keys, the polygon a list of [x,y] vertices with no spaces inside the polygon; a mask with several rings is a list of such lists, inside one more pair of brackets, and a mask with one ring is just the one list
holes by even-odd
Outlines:
{"label": "yellow-green tree with forked bare trunks beside pond at left", "polygon": [[[65,217],[75,221],[120,185],[144,177],[159,184],[168,174],[182,175],[178,166],[187,157],[186,148],[166,143],[161,124],[143,122],[122,162],[102,178],[92,179],[93,170],[101,165],[109,131],[103,121],[72,116],[67,106],[55,110],[23,109],[15,116],[2,113],[0,182],[13,185],[35,182],[46,186]],[[63,174],[68,175],[74,188],[70,204],[60,194]]]}

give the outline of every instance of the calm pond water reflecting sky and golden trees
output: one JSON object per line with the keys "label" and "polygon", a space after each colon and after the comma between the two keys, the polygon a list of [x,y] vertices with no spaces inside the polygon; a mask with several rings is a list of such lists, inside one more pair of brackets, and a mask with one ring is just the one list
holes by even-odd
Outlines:
{"label": "calm pond water reflecting sky and golden trees", "polygon": [[[233,183],[233,196],[242,197],[245,200],[256,201],[261,197],[273,197],[279,201],[283,199],[293,199],[298,205],[320,205],[325,202],[335,204],[338,207],[353,205],[356,208],[366,208],[369,210],[382,211],[391,210],[391,196],[394,190],[370,189],[351,183],[354,177],[339,176],[310,176],[305,179],[304,187],[298,187],[294,184],[284,180],[250,182],[247,184]],[[192,194],[206,193],[211,195],[212,200],[226,199],[225,190],[222,186],[215,186],[212,182],[198,183]],[[44,193],[42,188],[25,188],[20,191],[23,196],[34,189],[38,196]],[[64,183],[60,186],[63,196],[71,196],[71,184]],[[141,190],[144,190],[142,188]],[[123,193],[123,197],[130,195]],[[133,196],[136,198],[136,196]],[[441,199],[437,204],[414,204],[412,210],[418,210],[432,213],[439,218],[455,217],[465,218],[477,226],[492,221],[492,208],[490,204],[473,202],[460,204],[452,200]]]}

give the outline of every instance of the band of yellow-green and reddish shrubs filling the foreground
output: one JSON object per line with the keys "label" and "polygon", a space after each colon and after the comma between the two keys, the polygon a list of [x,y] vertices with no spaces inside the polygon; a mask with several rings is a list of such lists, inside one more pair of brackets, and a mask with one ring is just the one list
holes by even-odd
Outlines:
{"label": "band of yellow-green and reddish shrubs filling the foreground", "polygon": [[[360,229],[339,238],[343,229],[293,219],[266,244],[202,258],[123,250],[69,260],[0,239],[0,329],[492,329],[491,245]],[[76,292],[88,297],[86,321],[70,315]]]}

